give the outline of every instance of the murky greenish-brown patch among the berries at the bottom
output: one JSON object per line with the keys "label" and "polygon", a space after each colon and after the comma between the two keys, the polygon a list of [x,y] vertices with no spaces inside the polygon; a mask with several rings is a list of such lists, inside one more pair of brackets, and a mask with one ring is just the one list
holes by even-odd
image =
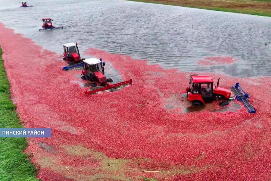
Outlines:
{"label": "murky greenish-brown patch among the berries at the bottom", "polygon": [[[122,180],[122,181],[136,181],[140,177],[149,177],[150,174],[153,178],[168,179],[173,175],[197,173],[203,170],[207,170],[210,165],[203,167],[178,165],[170,167],[170,169],[159,168],[159,166],[148,166],[147,163],[151,163],[152,160],[144,157],[133,157],[131,159],[117,159],[109,158],[105,154],[88,149],[82,145],[62,145],[67,154],[76,155],[82,157],[92,157],[93,161],[99,162],[97,167],[94,166],[79,166],[72,167],[69,165],[59,165],[57,160],[52,160],[50,157],[44,157],[39,160],[39,164],[42,167],[49,167],[50,169],[64,174],[67,178],[75,180]],[[155,167],[155,168],[153,168]],[[72,171],[69,171],[69,170]],[[127,176],[135,175],[135,178]],[[154,173],[151,173],[154,172]]]}

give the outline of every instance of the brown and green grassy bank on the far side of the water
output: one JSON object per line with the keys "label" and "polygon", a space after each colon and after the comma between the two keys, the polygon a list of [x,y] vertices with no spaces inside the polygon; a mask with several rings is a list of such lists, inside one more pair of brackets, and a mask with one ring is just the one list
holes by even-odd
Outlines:
{"label": "brown and green grassy bank on the far side of the water", "polygon": [[271,17],[271,0],[128,0]]}

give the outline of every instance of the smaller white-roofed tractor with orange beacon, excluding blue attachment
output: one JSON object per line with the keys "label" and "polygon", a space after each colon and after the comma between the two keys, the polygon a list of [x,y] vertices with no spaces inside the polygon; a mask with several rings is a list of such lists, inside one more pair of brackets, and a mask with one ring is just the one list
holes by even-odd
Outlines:
{"label": "smaller white-roofed tractor with orange beacon, excluding blue attachment", "polygon": [[63,60],[69,62],[81,62],[81,57],[77,43],[66,43],[63,45],[64,53]]}

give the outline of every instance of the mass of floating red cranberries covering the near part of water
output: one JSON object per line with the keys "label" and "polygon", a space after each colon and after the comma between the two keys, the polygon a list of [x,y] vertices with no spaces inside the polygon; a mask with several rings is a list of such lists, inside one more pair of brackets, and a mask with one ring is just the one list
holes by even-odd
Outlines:
{"label": "mass of floating red cranberries covering the near part of water", "polygon": [[263,99],[270,95],[270,77],[202,72],[214,81],[221,78],[223,88],[239,82],[256,113],[249,114],[238,101],[194,110],[184,91],[192,72],[89,48],[86,55],[110,62],[133,84],[85,95],[78,83],[85,83],[81,71],[62,71],[66,63],[59,54],[2,24],[0,31],[11,97],[22,125],[52,129],[51,138],[28,139],[25,153],[39,168],[38,179],[271,179],[271,105]]}

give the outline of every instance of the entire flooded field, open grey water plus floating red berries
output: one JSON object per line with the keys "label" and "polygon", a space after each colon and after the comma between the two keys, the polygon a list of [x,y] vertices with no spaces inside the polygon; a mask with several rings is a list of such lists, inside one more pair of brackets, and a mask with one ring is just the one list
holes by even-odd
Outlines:
{"label": "entire flooded field, open grey water plus floating red berries", "polygon": [[[37,178],[270,180],[271,105],[262,95],[271,78],[254,76],[270,73],[271,18],[118,0],[0,3],[16,112],[24,127],[52,130],[27,139]],[[44,17],[64,29],[39,31]],[[81,71],[61,70],[68,42],[82,58],[102,58],[114,82],[121,75],[133,84],[85,95]],[[240,82],[257,112],[237,100],[192,108],[191,71],[227,89]]]}

